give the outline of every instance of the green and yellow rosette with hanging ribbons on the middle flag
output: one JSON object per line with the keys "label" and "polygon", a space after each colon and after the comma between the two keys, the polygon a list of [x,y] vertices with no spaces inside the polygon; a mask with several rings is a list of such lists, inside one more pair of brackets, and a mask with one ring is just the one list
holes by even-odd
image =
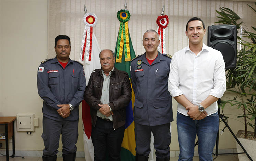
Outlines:
{"label": "green and yellow rosette with hanging ribbons on the middle flag", "polygon": [[117,40],[117,52],[116,62],[122,62],[122,53],[124,50],[125,61],[131,60],[130,45],[129,45],[129,29],[128,21],[130,20],[131,14],[128,10],[119,10],[117,12],[117,18],[120,21],[120,27],[118,32]]}

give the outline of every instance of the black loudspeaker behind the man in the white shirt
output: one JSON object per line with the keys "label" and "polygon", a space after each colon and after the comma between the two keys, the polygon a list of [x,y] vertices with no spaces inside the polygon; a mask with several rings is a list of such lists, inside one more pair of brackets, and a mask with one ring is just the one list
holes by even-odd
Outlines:
{"label": "black loudspeaker behind the man in the white shirt", "polygon": [[222,53],[225,69],[236,67],[236,34],[235,25],[208,26],[207,46],[219,50]]}

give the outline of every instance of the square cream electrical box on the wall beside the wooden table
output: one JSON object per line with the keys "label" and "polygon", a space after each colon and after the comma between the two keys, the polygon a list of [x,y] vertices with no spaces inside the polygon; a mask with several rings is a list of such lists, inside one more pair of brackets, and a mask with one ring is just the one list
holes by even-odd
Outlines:
{"label": "square cream electrical box on the wall beside the wooden table", "polygon": [[17,113],[17,131],[35,131],[34,117],[34,113]]}

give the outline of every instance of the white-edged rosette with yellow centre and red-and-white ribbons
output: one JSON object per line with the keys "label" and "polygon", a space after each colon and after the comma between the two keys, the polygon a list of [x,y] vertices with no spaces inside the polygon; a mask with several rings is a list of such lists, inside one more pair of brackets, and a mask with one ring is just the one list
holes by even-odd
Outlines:
{"label": "white-edged rosette with yellow centre and red-and-white ribbons", "polygon": [[90,12],[84,15],[83,20],[85,28],[80,50],[80,60],[83,62],[85,55],[85,62],[90,64],[92,55],[92,28],[97,24],[98,17],[94,13]]}

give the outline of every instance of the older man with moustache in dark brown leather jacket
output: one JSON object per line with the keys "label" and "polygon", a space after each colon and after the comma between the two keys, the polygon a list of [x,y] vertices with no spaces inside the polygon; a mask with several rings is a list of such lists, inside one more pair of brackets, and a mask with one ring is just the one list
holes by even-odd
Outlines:
{"label": "older man with moustache in dark brown leather jacket", "polygon": [[99,54],[101,69],[95,69],[85,88],[85,101],[91,107],[94,160],[120,160],[124,137],[126,106],[131,100],[131,85],[126,72],[114,67],[113,51]]}

